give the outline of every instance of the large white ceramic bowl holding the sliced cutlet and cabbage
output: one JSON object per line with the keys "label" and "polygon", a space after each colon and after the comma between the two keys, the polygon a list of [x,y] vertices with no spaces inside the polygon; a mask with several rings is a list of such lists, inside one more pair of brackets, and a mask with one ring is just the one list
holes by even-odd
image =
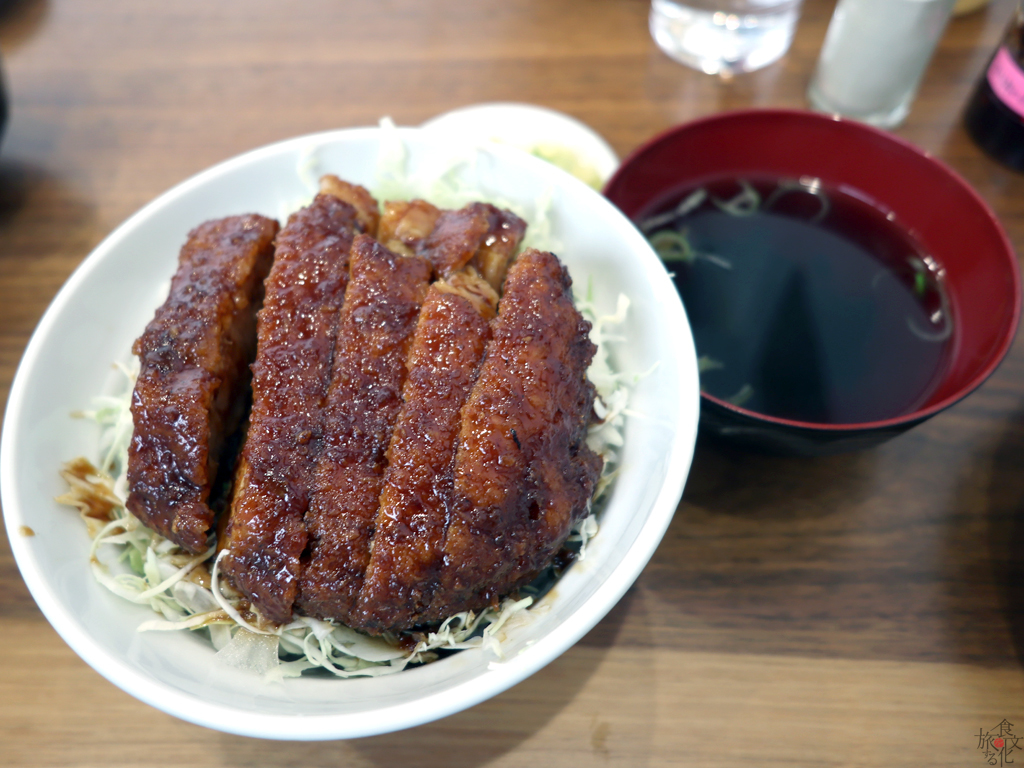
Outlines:
{"label": "large white ceramic bowl holding the sliced cutlet and cabbage", "polygon": [[[436,138],[398,129],[411,173],[436,163]],[[579,640],[614,605],[660,541],[682,494],[696,434],[696,358],[686,316],[664,267],[600,195],[521,153],[480,151],[472,169],[488,195],[525,207],[551,193],[552,234],[580,283],[609,310],[633,301],[617,367],[647,372],[635,387],[622,471],[587,558],[506,641],[506,659],[456,653],[397,675],[266,683],[224,667],[201,636],[139,633],[153,617],[89,575],[89,542],[62,493],[61,462],[96,455],[95,427],[70,418],[111,391],[111,362],[163,300],[186,232],[209,218],[279,215],[309,197],[310,172],[373,187],[381,133],[357,128],[296,138],[221,163],[162,195],[116,229],[60,290],[26,349],[10,392],[0,487],[7,535],[29,589],[56,631],[97,672],[183,720],[231,733],[287,739],[365,736],[428,722],[519,682]],[[35,531],[26,536],[23,526]]]}

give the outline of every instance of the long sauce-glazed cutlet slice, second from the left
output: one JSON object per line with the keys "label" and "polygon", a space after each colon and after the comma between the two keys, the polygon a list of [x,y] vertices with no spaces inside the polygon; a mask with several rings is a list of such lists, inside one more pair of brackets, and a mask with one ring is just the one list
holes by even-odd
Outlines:
{"label": "long sauce-glazed cutlet slice, second from the left", "polygon": [[356,209],[317,195],[278,236],[259,313],[249,433],[236,472],[221,567],[267,618],[291,616],[303,515],[323,442],[323,407]]}

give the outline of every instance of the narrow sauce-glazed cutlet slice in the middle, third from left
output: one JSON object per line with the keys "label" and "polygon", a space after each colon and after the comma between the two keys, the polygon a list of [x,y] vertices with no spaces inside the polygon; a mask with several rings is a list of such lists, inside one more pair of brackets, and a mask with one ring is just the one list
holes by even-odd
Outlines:
{"label": "narrow sauce-glazed cutlet slice in the middle, third from left", "polygon": [[431,268],[426,259],[358,237],[349,272],[295,602],[301,613],[341,622],[348,620],[370,562],[385,452]]}

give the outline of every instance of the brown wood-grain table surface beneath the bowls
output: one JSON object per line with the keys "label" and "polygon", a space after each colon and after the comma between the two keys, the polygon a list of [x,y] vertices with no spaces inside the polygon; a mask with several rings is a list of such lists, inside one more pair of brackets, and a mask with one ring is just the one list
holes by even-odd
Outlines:
{"label": "brown wood-grain table surface beneath the bowls", "polygon": [[[950,23],[896,133],[1024,251],[1024,175],[959,122],[1013,4]],[[0,2],[0,399],[75,266],[208,165],[492,100],[564,111],[625,155],[722,110],[804,106],[833,6],[807,0],[790,53],[726,82],[655,48],[646,0]],[[1024,734],[1022,465],[1021,339],[967,400],[870,451],[698,443],[652,561],[575,647],[467,712],[339,742],[225,735],[121,692],[49,628],[4,540],[0,764],[982,766],[980,732]]]}

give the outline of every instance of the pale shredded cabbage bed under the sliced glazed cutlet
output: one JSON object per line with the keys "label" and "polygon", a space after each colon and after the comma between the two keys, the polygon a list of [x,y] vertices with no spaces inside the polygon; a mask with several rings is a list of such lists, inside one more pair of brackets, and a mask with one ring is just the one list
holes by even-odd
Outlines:
{"label": "pale shredded cabbage bed under the sliced glazed cutlet", "polygon": [[[406,147],[390,121],[382,121],[381,151],[378,158],[380,200],[421,197],[445,207],[460,207],[480,200],[471,185],[460,181],[457,166],[474,162],[467,155],[438,161],[435,173],[417,177],[404,175]],[[315,189],[315,153],[304,153],[297,172]],[[511,208],[528,222],[535,247],[553,250],[548,208],[550,194],[537,201],[534,210],[513,206],[508,201],[489,202]],[[299,203],[296,205],[302,205]],[[595,499],[612,481],[617,450],[623,443],[623,427],[629,399],[628,376],[611,365],[609,345],[623,339],[615,328],[626,319],[629,300],[620,296],[615,312],[601,314],[594,306],[592,290],[577,296],[581,312],[592,323],[591,339],[597,353],[588,371],[597,388],[595,410],[603,420],[591,428],[588,444],[604,459]],[[90,568],[99,584],[130,602],[147,605],[158,617],[143,622],[140,632],[205,631],[223,663],[251,671],[267,680],[297,677],[307,670],[324,670],[337,677],[372,677],[400,672],[413,664],[437,657],[439,651],[480,649],[504,658],[502,642],[508,634],[526,625],[535,600],[554,580],[546,574],[521,590],[519,599],[508,597],[498,608],[480,612],[464,611],[444,621],[437,629],[403,638],[370,637],[333,622],[296,616],[291,624],[264,622],[242,596],[220,579],[215,547],[198,556],[184,553],[172,542],[150,530],[125,508],[127,498],[128,443],[132,434],[131,391],[138,362],[118,365],[124,374],[123,389],[117,395],[95,398],[95,407],[76,414],[94,421],[100,428],[99,469],[84,460],[65,466],[61,475],[69,490],[57,501],[77,507],[85,520],[92,546]],[[569,542],[579,548],[577,559],[586,557],[588,542],[598,531],[593,512],[574,526]],[[547,584],[542,584],[546,582]],[[404,640],[404,642],[399,642]]]}

